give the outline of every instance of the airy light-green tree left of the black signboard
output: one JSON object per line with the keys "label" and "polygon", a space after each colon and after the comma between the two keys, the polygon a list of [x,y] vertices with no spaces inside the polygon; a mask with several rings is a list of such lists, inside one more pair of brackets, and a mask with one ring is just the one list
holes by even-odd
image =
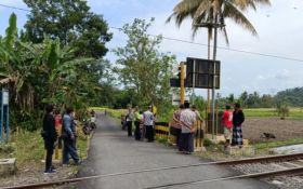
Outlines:
{"label": "airy light-green tree left of the black signboard", "polygon": [[116,73],[127,89],[135,90],[136,100],[143,104],[170,102],[169,79],[175,63],[173,55],[160,53],[161,36],[147,35],[153,21],[136,18],[126,24],[121,31],[128,36],[127,45],[114,51],[118,57]]}

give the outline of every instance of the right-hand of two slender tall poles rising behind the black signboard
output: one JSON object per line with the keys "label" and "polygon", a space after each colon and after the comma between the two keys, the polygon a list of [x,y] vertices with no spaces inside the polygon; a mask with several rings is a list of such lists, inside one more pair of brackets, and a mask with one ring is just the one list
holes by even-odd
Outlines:
{"label": "right-hand of two slender tall poles rising behind the black signboard", "polygon": [[214,16],[214,38],[213,38],[213,83],[212,83],[212,139],[214,139],[214,120],[215,120],[215,72],[216,72],[216,67],[215,67],[215,58],[216,58],[216,40],[218,40],[218,14]]}

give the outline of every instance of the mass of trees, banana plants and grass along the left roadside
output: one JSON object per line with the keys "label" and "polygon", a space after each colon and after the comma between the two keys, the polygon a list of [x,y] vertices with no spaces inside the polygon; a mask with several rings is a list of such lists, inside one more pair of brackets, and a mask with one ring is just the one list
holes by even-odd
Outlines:
{"label": "mass of trees, banana plants and grass along the left roadside", "polygon": [[[55,105],[61,113],[71,106],[76,119],[82,120],[88,107],[103,98],[102,89],[110,84],[105,82],[109,62],[103,57],[111,33],[85,1],[24,2],[30,10],[24,28],[17,28],[13,13],[0,37],[0,87],[10,91],[11,130],[10,143],[0,144],[0,158],[16,158],[17,168],[39,172],[45,105]],[[77,146],[84,159],[89,137],[80,125],[78,130]]]}

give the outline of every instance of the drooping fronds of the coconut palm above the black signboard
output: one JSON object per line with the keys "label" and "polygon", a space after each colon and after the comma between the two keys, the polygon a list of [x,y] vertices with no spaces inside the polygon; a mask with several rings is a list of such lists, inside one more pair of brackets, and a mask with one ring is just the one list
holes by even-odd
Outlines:
{"label": "drooping fronds of the coconut palm above the black signboard", "polygon": [[[241,12],[247,11],[248,9],[256,11],[258,5],[271,5],[271,0],[182,0],[174,6],[173,13],[168,17],[167,23],[174,18],[176,26],[180,27],[186,18],[192,18],[194,39],[197,31],[200,29],[195,25],[213,23],[215,15],[223,15],[224,17],[230,18],[239,26],[242,26],[253,36],[258,36],[253,25]],[[222,28],[221,31],[228,45],[229,42],[226,28]],[[209,32],[210,37],[211,35],[212,32]]]}

